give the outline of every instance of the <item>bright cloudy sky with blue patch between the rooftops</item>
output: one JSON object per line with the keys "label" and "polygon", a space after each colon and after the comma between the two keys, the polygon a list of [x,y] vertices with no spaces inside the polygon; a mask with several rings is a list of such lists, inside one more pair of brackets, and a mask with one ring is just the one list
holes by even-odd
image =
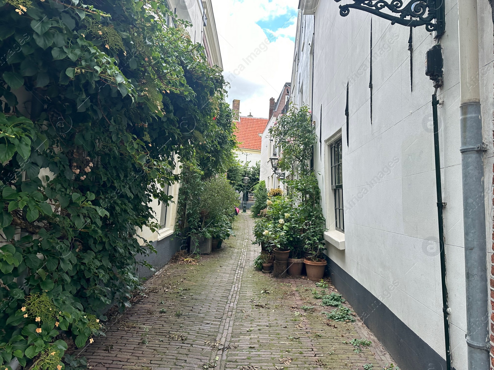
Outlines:
{"label": "bright cloudy sky with blue patch between the rooftops", "polygon": [[268,118],[269,98],[278,99],[291,79],[298,0],[212,0],[230,83],[227,102],[240,99],[241,115]]}

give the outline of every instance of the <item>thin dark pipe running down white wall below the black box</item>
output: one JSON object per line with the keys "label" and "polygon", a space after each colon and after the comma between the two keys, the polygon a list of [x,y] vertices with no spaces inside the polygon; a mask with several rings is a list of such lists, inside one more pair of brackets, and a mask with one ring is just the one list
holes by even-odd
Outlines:
{"label": "thin dark pipe running down white wall below the black box", "polygon": [[450,340],[450,321],[448,315],[448,287],[446,285],[446,251],[444,249],[444,218],[443,208],[443,190],[441,186],[441,160],[439,157],[439,124],[437,120],[437,88],[432,95],[432,120],[434,123],[434,159],[436,166],[436,195],[437,195],[437,218],[439,229],[439,252],[441,260],[441,288],[443,292],[443,320],[444,320],[444,342],[446,348],[446,369],[451,370],[451,340]]}

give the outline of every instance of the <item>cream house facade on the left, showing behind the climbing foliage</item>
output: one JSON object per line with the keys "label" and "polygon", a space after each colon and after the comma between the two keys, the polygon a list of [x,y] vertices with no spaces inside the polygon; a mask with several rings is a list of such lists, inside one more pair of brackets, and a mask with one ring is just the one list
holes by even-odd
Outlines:
{"label": "cream house facade on the left, showing behind the climbing foliage", "polygon": [[[192,23],[192,27],[188,27],[187,31],[192,40],[201,42],[204,46],[209,65],[222,68],[211,0],[168,0],[168,6],[178,18]],[[168,25],[169,27],[174,26],[171,19],[168,20]],[[175,158],[175,163],[177,166],[174,173],[178,174],[180,171],[178,158]],[[153,242],[152,244],[158,252],[147,257],[141,256],[140,259],[145,259],[156,270],[162,268],[181,247],[181,241],[178,238],[172,238],[177,218],[179,188],[180,184],[172,184],[164,189],[168,195],[173,196],[172,202],[168,205],[160,203],[158,200],[154,200],[150,204],[156,215],[156,222],[160,224],[160,229],[156,232],[151,231],[148,227],[139,230],[139,234],[144,239]],[[141,277],[149,277],[153,274],[154,271],[149,268],[141,267],[139,269]]]}

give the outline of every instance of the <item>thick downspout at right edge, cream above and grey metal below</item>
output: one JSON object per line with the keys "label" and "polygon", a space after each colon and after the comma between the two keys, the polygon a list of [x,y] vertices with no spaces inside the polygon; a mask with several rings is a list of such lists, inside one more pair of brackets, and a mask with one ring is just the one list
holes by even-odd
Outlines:
{"label": "thick downspout at right edge, cream above and grey metal below", "polygon": [[487,370],[490,367],[489,291],[477,0],[458,0],[458,35],[467,321],[465,338],[468,370]]}

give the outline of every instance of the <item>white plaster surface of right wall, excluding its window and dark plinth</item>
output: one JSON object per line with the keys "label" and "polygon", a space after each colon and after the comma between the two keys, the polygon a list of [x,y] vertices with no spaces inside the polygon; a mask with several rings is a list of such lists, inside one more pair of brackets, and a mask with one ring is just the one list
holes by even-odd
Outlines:
{"label": "white plaster surface of right wall, excluding its window and dark plinth", "polygon": [[[457,3],[446,0],[444,86],[440,148],[453,366],[466,369],[466,305],[459,130]],[[481,96],[485,142],[487,235],[492,211],[493,22],[487,1],[478,2]],[[314,16],[299,14],[291,102],[310,103],[310,49]],[[372,19],[372,124],[370,118],[370,23]],[[305,25],[303,32],[302,25]],[[304,38],[304,41],[300,37]],[[314,150],[323,208],[334,228],[330,178],[325,176],[325,141],[341,131],[345,207],[344,251],[328,254],[436,352],[445,357],[441,274],[432,133],[432,81],[424,54],[435,44],[424,27],[413,29],[413,81],[410,82],[409,28],[320,1],[315,15],[313,119],[323,148]],[[349,84],[349,143],[346,137],[346,85]],[[301,86],[303,89],[301,91]],[[302,99],[303,94],[303,99]],[[322,126],[321,126],[322,106]],[[320,154],[321,153],[321,154]],[[390,163],[393,163],[390,165]],[[377,178],[376,178],[377,176]],[[376,185],[368,185],[377,179]],[[375,182],[375,180],[374,180]],[[434,248],[435,247],[435,248]],[[489,243],[486,245],[491,253]],[[489,256],[490,258],[490,256]],[[490,259],[488,259],[490,260]],[[390,285],[396,289],[389,294]],[[372,314],[372,313],[370,313]]]}

